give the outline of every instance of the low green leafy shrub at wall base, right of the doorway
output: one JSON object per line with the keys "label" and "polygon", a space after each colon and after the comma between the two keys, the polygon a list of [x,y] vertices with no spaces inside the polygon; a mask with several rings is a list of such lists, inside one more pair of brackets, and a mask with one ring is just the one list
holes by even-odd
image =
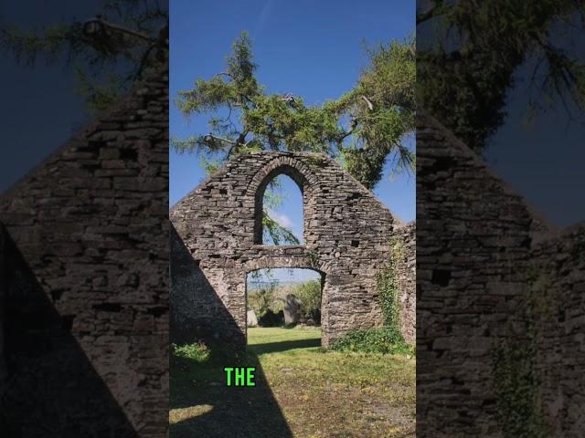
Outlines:
{"label": "low green leafy shrub at wall base, right of the doorway", "polygon": [[336,351],[359,351],[364,353],[412,354],[410,346],[396,328],[382,327],[350,331],[337,339],[331,349]]}

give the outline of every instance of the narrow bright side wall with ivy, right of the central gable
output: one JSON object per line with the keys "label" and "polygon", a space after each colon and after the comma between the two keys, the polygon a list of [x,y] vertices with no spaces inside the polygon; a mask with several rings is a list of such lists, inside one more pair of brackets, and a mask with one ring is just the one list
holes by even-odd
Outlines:
{"label": "narrow bright side wall with ivy, right of the central gable", "polygon": [[397,266],[399,287],[400,332],[408,342],[416,342],[417,334],[417,242],[416,223],[396,230],[400,259]]}

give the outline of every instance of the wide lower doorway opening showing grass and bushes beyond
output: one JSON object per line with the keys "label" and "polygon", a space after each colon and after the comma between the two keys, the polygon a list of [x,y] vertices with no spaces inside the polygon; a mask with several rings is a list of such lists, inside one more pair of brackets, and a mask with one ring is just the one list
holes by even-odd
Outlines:
{"label": "wide lower doorway opening showing grass and bushes beyond", "polygon": [[[271,268],[246,277],[248,345],[261,349],[321,345],[324,274],[314,269]],[[269,345],[270,344],[270,345]],[[274,344],[274,345],[271,345]]]}

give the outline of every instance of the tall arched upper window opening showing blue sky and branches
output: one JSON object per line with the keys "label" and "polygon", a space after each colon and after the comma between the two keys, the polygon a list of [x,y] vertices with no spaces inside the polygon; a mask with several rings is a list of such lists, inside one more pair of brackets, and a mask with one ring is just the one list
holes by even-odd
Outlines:
{"label": "tall arched upper window opening showing blue sky and branches", "polygon": [[271,172],[256,193],[254,244],[304,245],[303,177]]}

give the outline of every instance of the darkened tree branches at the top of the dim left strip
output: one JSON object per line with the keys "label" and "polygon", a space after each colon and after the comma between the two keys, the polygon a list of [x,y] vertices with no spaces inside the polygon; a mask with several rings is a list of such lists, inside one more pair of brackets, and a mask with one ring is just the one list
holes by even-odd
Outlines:
{"label": "darkened tree branches at the top of the dim left strip", "polygon": [[119,99],[167,47],[168,11],[155,0],[103,0],[96,16],[41,28],[0,22],[0,50],[17,62],[73,64],[90,113]]}

